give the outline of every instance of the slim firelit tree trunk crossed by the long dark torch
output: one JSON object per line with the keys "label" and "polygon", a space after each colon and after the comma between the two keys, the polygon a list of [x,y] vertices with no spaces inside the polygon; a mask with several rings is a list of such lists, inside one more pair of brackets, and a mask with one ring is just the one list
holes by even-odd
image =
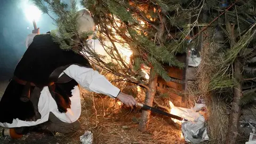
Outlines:
{"label": "slim firelit tree trunk crossed by the long dark torch", "polygon": [[[145,105],[152,106],[154,97],[156,94],[156,86],[157,86],[157,74],[154,73],[153,68],[150,69],[150,74],[149,74],[149,89],[146,94],[145,98]],[[139,125],[139,129],[141,131],[146,131],[148,123],[149,123],[149,118],[150,118],[150,110],[142,110],[141,114],[141,121]]]}

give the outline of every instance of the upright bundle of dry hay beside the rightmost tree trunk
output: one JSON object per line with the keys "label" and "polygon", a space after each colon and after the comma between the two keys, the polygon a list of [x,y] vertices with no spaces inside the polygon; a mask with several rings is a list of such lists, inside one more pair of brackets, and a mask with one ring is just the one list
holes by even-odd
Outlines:
{"label": "upright bundle of dry hay beside the rightmost tree trunk", "polygon": [[[206,126],[210,136],[209,143],[225,143],[228,129],[228,107],[226,98],[220,91],[212,89],[212,78],[219,70],[219,63],[223,60],[221,57],[218,43],[214,42],[214,28],[209,28],[204,32],[206,37],[201,51],[201,64],[198,66],[196,81],[188,84],[187,101],[190,107],[194,103],[204,100],[207,106]],[[215,84],[214,84],[215,86]]]}

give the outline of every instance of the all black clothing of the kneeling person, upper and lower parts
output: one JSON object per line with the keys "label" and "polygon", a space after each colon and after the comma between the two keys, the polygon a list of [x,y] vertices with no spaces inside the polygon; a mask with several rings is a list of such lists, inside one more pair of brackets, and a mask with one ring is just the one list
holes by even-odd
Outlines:
{"label": "all black clothing of the kneeling person, upper and lower parts", "polygon": [[[34,37],[33,42],[15,68],[14,76],[23,81],[34,83],[36,87],[42,89],[51,82],[58,82],[58,76],[70,65],[91,68],[89,61],[83,55],[71,50],[61,50],[59,44],[53,42],[50,34],[42,34]],[[57,102],[61,113],[70,108],[69,97],[72,96],[71,90],[74,89],[75,85],[77,83],[74,80],[53,85],[54,89],[51,93],[53,93],[54,100]],[[20,100],[23,88],[24,85],[20,85],[13,80],[10,81],[0,101],[1,123],[12,123],[15,118],[22,121],[26,119],[36,121],[38,111],[33,107],[33,102],[31,100],[28,102]],[[34,100],[35,107],[37,102]]]}

